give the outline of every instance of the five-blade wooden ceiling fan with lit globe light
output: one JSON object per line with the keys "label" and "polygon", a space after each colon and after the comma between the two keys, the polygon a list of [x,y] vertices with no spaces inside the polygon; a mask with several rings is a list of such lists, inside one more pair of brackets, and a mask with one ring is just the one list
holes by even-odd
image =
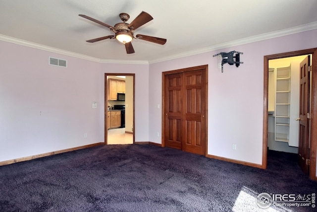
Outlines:
{"label": "five-blade wooden ceiling fan with lit globe light", "polygon": [[137,28],[139,28],[140,26],[146,24],[147,22],[149,22],[150,20],[153,19],[153,17],[145,12],[142,11],[131,23],[126,23],[127,20],[129,20],[130,15],[127,13],[120,13],[119,17],[120,19],[123,21],[123,23],[117,23],[115,24],[113,27],[101,22],[99,20],[96,20],[95,18],[89,17],[87,15],[81,15],[79,14],[79,16],[86,18],[88,20],[94,21],[96,23],[99,23],[103,26],[108,27],[112,32],[115,33],[115,35],[107,35],[104,37],[100,37],[100,38],[95,38],[95,39],[91,39],[88,40],[87,42],[89,43],[94,43],[97,41],[101,41],[101,40],[105,40],[105,39],[113,39],[116,38],[118,41],[120,41],[121,43],[123,43],[125,45],[125,49],[127,51],[127,54],[131,54],[134,53],[134,49],[133,46],[131,44],[132,39],[141,39],[141,40],[145,40],[145,41],[150,41],[153,43],[157,43],[160,45],[164,45],[166,43],[166,39],[164,38],[157,38],[157,37],[152,37],[152,36],[148,36],[148,35],[136,35],[134,37],[134,30],[136,30]]}

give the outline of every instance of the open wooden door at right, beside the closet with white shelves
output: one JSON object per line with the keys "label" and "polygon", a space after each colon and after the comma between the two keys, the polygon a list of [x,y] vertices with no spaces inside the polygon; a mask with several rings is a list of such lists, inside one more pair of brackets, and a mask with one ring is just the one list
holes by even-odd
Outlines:
{"label": "open wooden door at right, beside the closet with white shelves", "polygon": [[310,112],[310,56],[300,64],[300,109],[299,109],[299,164],[305,174],[309,173],[309,118]]}

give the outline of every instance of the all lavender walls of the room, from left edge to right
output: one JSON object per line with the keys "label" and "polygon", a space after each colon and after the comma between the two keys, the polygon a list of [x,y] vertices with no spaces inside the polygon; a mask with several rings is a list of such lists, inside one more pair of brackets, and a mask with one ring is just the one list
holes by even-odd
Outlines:
{"label": "all lavender walls of the room, from left edge to right", "polygon": [[[162,71],[207,64],[208,154],[262,164],[263,57],[315,48],[316,37],[312,30],[151,65],[100,64],[0,41],[0,161],[104,141],[106,72],[136,74],[136,141],[161,143]],[[221,73],[212,55],[232,50],[244,53],[244,64]],[[68,68],[49,66],[49,56]]]}

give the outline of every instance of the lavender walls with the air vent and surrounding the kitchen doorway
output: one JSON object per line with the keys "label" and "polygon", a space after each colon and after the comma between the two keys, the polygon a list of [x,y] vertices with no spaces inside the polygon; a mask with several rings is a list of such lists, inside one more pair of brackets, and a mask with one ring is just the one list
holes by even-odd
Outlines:
{"label": "lavender walls with the air vent and surrounding the kitchen doorway", "polygon": [[[101,64],[3,41],[0,50],[0,161],[103,142],[106,72],[135,73],[135,140],[149,141],[149,65]],[[49,57],[68,67],[50,66]]]}

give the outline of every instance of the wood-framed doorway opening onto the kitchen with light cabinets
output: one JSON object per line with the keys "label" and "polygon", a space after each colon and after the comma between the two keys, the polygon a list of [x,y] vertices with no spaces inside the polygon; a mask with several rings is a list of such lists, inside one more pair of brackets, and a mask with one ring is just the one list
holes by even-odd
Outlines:
{"label": "wood-framed doorway opening onto the kitchen with light cabinets", "polygon": [[105,73],[106,144],[135,142],[134,90],[134,73]]}

